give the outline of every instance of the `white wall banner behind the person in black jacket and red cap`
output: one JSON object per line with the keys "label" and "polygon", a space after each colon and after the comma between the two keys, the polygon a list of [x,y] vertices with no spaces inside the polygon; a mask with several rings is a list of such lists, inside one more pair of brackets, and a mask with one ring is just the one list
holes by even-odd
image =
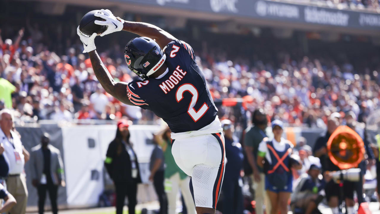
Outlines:
{"label": "white wall banner behind the person in black jacket and red cap", "polygon": [[[130,126],[133,143],[141,167],[143,183],[148,182],[149,159],[154,145],[152,133],[159,126]],[[67,204],[73,206],[96,206],[105,187],[104,160],[109,142],[116,135],[115,125],[81,125],[62,127],[64,162],[67,181]],[[140,185],[138,201],[155,200],[153,188]],[[154,196],[152,196],[154,195]]]}

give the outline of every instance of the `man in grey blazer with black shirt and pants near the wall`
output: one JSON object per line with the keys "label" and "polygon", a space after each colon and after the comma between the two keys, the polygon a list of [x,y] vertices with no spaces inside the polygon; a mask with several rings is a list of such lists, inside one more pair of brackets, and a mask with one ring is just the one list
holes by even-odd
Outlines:
{"label": "man in grey blazer with black shirt and pants near the wall", "polygon": [[44,213],[46,191],[49,191],[53,214],[58,213],[58,186],[65,187],[63,161],[57,148],[49,144],[50,136],[44,133],[41,144],[32,148],[30,156],[32,185],[38,191],[38,213]]}

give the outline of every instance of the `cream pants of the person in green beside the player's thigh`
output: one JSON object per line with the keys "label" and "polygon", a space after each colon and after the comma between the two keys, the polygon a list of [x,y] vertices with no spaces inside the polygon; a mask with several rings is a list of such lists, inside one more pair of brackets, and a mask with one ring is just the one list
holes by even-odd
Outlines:
{"label": "cream pants of the person in green beside the player's thigh", "polygon": [[165,179],[165,192],[168,196],[168,214],[176,214],[177,195],[179,188],[181,189],[182,196],[184,197],[187,213],[196,214],[195,204],[193,197],[191,196],[189,183],[190,177],[186,177],[185,179],[181,180],[178,172],[171,176],[169,179]]}

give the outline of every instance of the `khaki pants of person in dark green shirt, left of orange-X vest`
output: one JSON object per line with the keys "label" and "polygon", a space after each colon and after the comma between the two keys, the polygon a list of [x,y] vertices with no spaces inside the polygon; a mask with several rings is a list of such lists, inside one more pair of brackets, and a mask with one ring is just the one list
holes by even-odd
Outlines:
{"label": "khaki pants of person in dark green shirt, left of orange-X vest", "polygon": [[256,201],[256,214],[264,214],[263,206],[265,204],[266,214],[270,214],[271,202],[268,199],[268,196],[265,191],[265,174],[260,173],[260,182],[255,182],[253,175],[252,179],[252,188],[255,190],[255,201]]}

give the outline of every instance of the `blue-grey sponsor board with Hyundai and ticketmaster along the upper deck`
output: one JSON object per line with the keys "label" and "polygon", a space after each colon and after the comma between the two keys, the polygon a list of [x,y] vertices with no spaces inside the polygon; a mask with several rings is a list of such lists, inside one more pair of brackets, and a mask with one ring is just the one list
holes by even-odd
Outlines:
{"label": "blue-grey sponsor board with Hyundai and ticketmaster along the upper deck", "polygon": [[[252,26],[321,30],[352,35],[380,35],[380,8],[355,10],[342,5],[299,0],[41,0],[112,11],[156,14]],[[115,13],[115,12],[114,12]],[[117,14],[117,13],[115,13]]]}

